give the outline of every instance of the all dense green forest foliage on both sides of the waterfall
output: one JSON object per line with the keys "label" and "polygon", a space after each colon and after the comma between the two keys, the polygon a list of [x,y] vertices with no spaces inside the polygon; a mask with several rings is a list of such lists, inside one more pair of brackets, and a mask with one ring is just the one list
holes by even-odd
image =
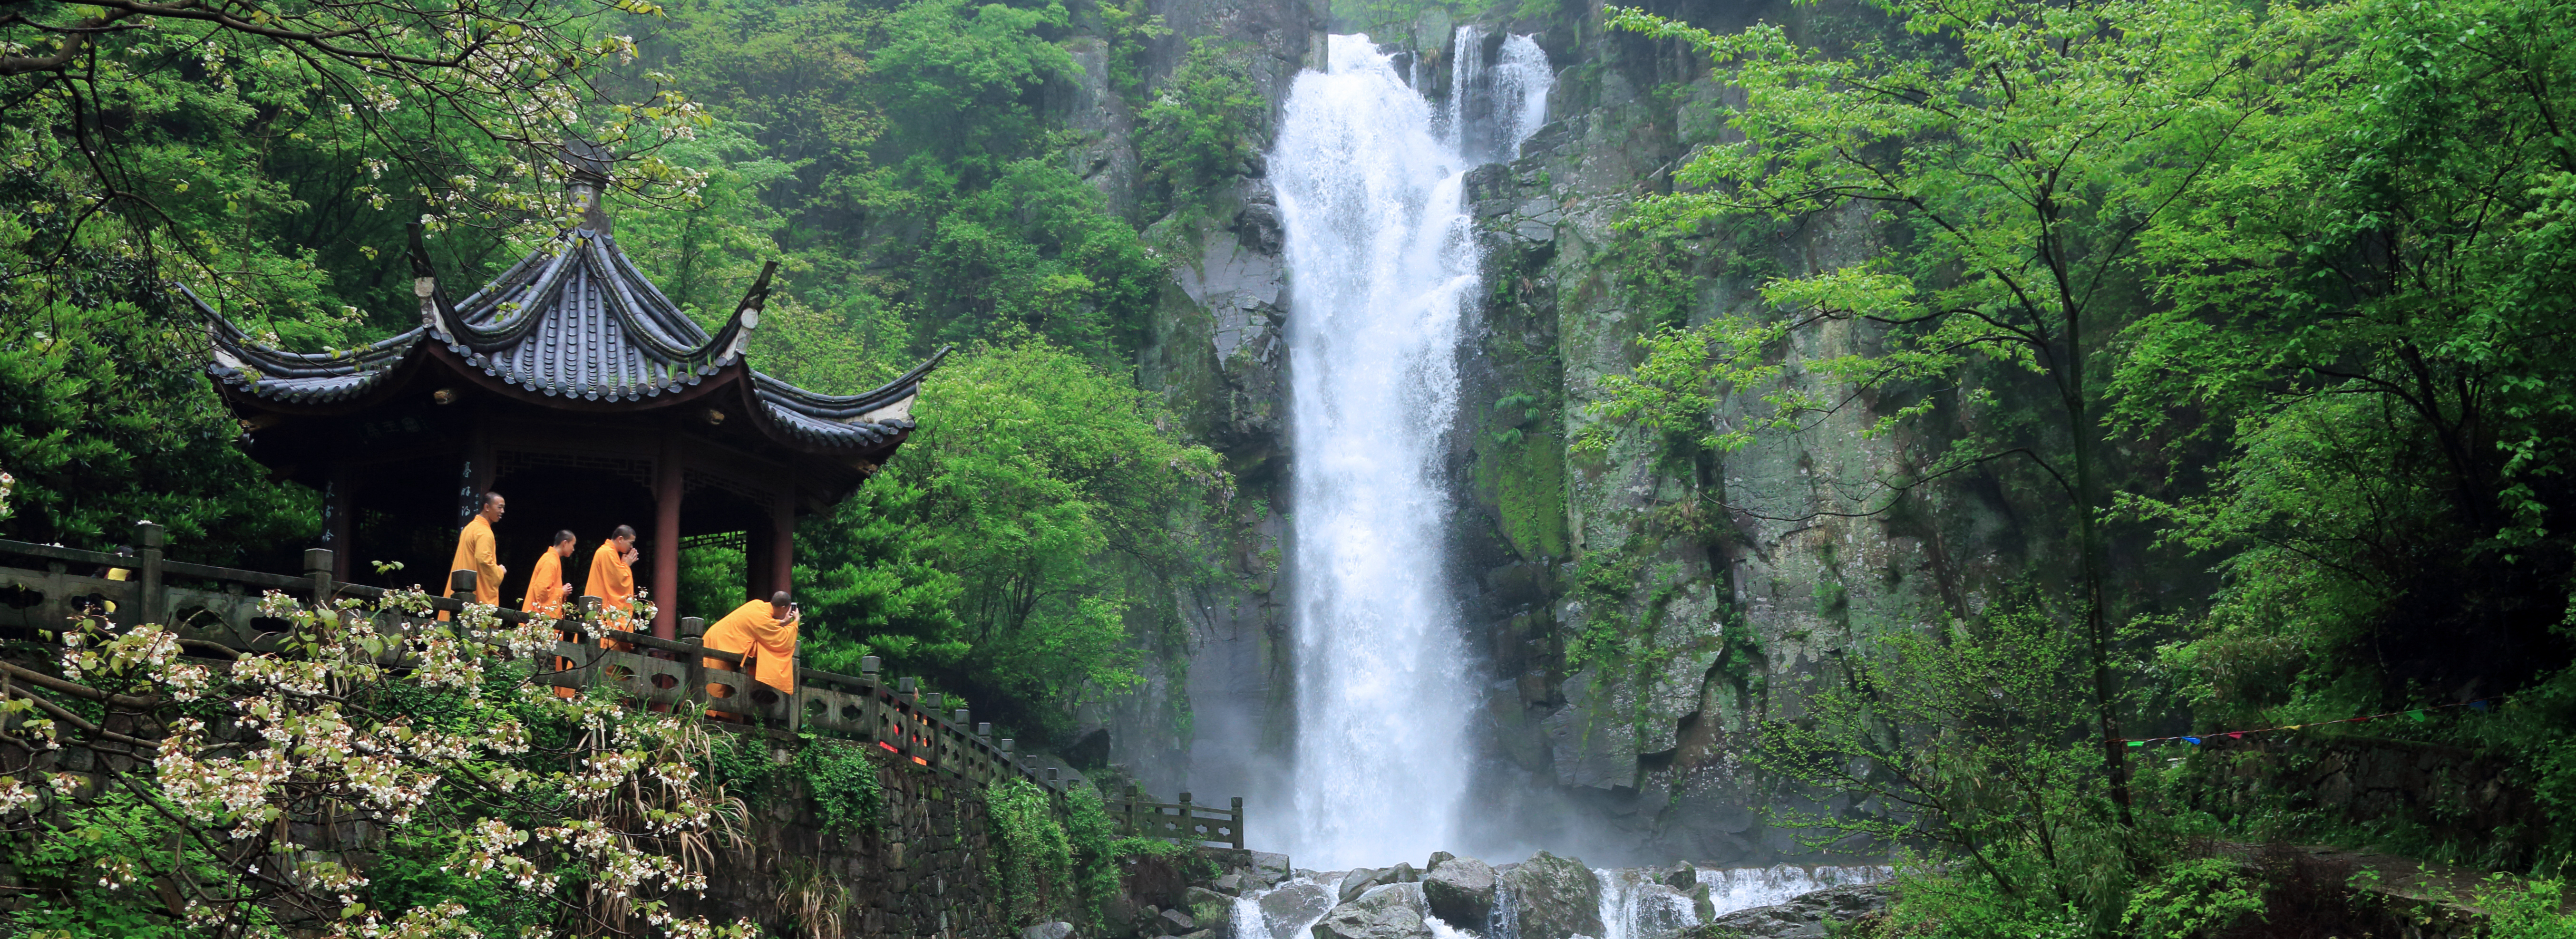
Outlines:
{"label": "all dense green forest foliage on both sides of the waterfall", "polygon": [[[1785,10],[1803,26],[1716,31],[1662,5],[1334,5],[1337,28],[1386,36],[1437,13],[1651,39],[1728,90],[1723,134],[1638,183],[1600,255],[1649,332],[1587,404],[1579,458],[1643,440],[1659,466],[1708,466],[1857,422],[1896,458],[1834,479],[1844,502],[1819,515],[1940,512],[1973,486],[2030,533],[1973,610],[1837,651],[1801,713],[1754,728],[1765,772],[1857,805],[1790,821],[1906,857],[1899,934],[2262,934],[2267,906],[2298,900],[2295,877],[2210,844],[2264,839],[2537,875],[2486,906],[2566,934],[2576,3]],[[1154,44],[1172,49],[1164,75],[1146,75]],[[1064,98],[1087,69],[1133,113],[1136,198],[1108,198],[1069,157],[1084,141]],[[616,160],[621,244],[688,314],[714,324],[762,262],[783,265],[750,350],[760,368],[855,394],[961,347],[902,455],[799,527],[806,651],[837,671],[886,656],[1030,741],[1069,736],[1077,707],[1182,666],[1182,597],[1234,576],[1218,556],[1267,515],[1211,440],[1180,430],[1193,401],[1139,370],[1177,265],[1159,239],[1260,175],[1262,95],[1242,49],[1175,36],[1141,0],[0,3],[0,538],[108,548],[149,517],[183,558],[291,569],[319,497],[237,448],[173,286],[291,350],[386,337],[415,316],[404,224],[430,229],[448,275],[487,278],[567,224],[562,157],[585,141]],[[1826,224],[1880,250],[1790,270],[1777,247]],[[1718,283],[1759,301],[1710,309]],[[1747,507],[1705,502],[1667,515],[1726,543],[1692,520]],[[739,548],[683,561],[672,602],[742,599]],[[1579,589],[1631,589],[1602,556],[1556,561]],[[1569,625],[1564,661],[1667,653],[1602,610]],[[762,756],[690,725],[629,715],[580,736],[613,707],[538,700],[500,671],[376,674],[348,646],[363,638],[299,615],[317,630],[307,651],[337,656],[343,695],[381,707],[350,718],[363,733],[394,733],[394,707],[451,736],[526,728],[536,756],[459,743],[502,777],[600,746],[639,767],[721,764],[667,785],[634,769],[639,805],[703,805],[680,841],[724,839],[732,798],[760,785]],[[477,641],[510,643],[495,635]],[[152,635],[90,641],[113,646],[88,674],[113,695],[209,682],[152,659]],[[299,695],[281,677],[245,687]],[[2481,720],[2424,718],[2468,705]],[[2383,738],[2506,764],[2530,818],[2483,836],[2411,816],[2354,831],[2246,782],[2254,759],[2143,746],[2385,713],[2416,720]],[[801,759],[811,779],[858,777],[832,761],[855,756]],[[0,810],[39,805],[33,782],[0,785]],[[693,846],[652,862],[649,898],[616,903],[574,893],[665,844],[549,854],[518,890],[440,867],[484,852],[518,872],[497,857],[526,852],[471,841],[471,826],[641,818],[562,785],[446,790],[428,813],[456,831],[404,831],[374,913],[350,900],[343,918],[456,903],[474,929],[641,931],[701,872]],[[10,908],[13,929],[268,926],[191,924],[113,877],[90,888],[100,864],[255,813],[206,792],[155,813],[144,790],[70,821],[10,816],[15,834],[90,839],[46,841],[28,867],[44,898]],[[873,795],[840,798],[863,818]],[[1005,805],[1036,818],[1028,798]],[[1105,846],[1046,844],[1056,867],[1079,854],[1084,877],[1105,870]],[[237,911],[291,895],[327,913],[335,895],[260,893],[242,854],[211,846],[149,864],[165,867],[137,882],[193,877],[204,903]]]}

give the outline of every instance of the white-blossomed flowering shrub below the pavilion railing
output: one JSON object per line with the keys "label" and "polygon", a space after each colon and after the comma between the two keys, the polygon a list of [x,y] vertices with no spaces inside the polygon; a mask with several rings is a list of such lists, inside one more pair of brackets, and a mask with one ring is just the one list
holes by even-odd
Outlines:
{"label": "white-blossomed flowering shrub below the pavilion railing", "polygon": [[[551,625],[428,610],[273,592],[273,651],[90,617],[10,661],[0,934],[757,934],[675,903],[742,849],[696,713],[556,697]],[[44,769],[67,746],[93,772]]]}

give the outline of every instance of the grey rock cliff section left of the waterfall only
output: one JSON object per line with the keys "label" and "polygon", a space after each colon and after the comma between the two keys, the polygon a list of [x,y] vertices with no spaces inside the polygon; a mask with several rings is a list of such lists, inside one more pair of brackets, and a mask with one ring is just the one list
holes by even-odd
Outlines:
{"label": "grey rock cliff section left of the waterfall only", "polygon": [[1136,370],[1162,391],[1182,430],[1226,455],[1247,507],[1216,538],[1224,543],[1226,584],[1180,599],[1190,620],[1188,648],[1149,664],[1141,689],[1084,715],[1092,759],[1128,769],[1154,792],[1193,790],[1252,795],[1252,767],[1285,741],[1285,620],[1273,602],[1285,527],[1270,509],[1280,484],[1288,275],[1280,260],[1280,221],[1260,160],[1247,160],[1216,185],[1170,193],[1159,219],[1139,216],[1151,185],[1139,152],[1139,116],[1159,95],[1180,95],[1175,72],[1193,41],[1226,57],[1249,77],[1267,111],[1249,126],[1247,149],[1270,149],[1280,103],[1296,72],[1324,49],[1321,0],[1162,0],[1146,15],[1170,31],[1144,39],[1141,90],[1121,95],[1113,82],[1110,39],[1074,41],[1084,67],[1079,87],[1061,108],[1079,134],[1066,160],[1100,188],[1110,206],[1144,226],[1146,242],[1167,262],[1170,280]]}

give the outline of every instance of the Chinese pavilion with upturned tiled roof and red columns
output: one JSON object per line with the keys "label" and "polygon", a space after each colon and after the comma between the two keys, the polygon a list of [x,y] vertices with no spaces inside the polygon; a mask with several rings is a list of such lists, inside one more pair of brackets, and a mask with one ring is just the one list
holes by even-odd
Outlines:
{"label": "Chinese pavilion with upturned tiled roof and red columns", "polygon": [[853,396],[768,376],[744,345],[778,265],[708,334],[618,250],[592,196],[600,183],[577,178],[582,226],[464,301],[448,298],[412,226],[420,324],[361,350],[260,345],[191,293],[250,455],[325,494],[337,579],[371,579],[353,558],[399,558],[402,584],[435,589],[477,494],[500,491],[505,605],[526,594],[556,530],[580,538],[564,558],[580,594],[592,545],[634,525],[636,581],[667,638],[683,540],[739,538],[744,594],[788,589],[796,517],[850,497],[912,432],[922,376],[945,350]]}

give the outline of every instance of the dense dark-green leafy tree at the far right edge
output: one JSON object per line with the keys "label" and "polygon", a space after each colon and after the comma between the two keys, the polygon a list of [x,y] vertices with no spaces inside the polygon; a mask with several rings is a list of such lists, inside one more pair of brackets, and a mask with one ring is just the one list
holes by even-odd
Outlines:
{"label": "dense dark-green leafy tree at the far right edge", "polygon": [[2164,309],[2117,370],[2138,435],[2231,448],[2205,497],[2136,507],[2226,558],[2197,648],[2233,715],[2303,687],[2494,695],[2571,659],[2576,5],[2336,26],[2262,147],[2146,232]]}

